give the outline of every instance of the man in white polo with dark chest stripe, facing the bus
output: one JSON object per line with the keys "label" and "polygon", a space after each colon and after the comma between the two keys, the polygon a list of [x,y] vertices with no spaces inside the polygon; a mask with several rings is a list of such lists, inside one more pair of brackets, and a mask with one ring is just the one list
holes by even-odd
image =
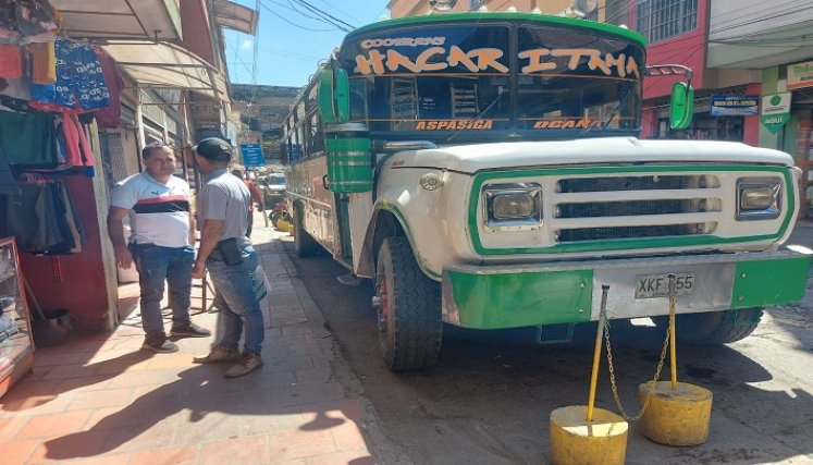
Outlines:
{"label": "man in white polo with dark chest stripe, facing the bus", "polygon": [[[189,185],[174,176],[175,155],[163,143],[141,150],[144,171],[116,184],[110,200],[108,232],[122,268],[135,262],[141,289],[145,350],[177,352],[167,338],[161,316],[164,282],[170,287],[170,335],[206,338],[210,331],[189,319],[195,220],[189,211]],[[132,234],[124,241],[122,220],[130,215]]]}

